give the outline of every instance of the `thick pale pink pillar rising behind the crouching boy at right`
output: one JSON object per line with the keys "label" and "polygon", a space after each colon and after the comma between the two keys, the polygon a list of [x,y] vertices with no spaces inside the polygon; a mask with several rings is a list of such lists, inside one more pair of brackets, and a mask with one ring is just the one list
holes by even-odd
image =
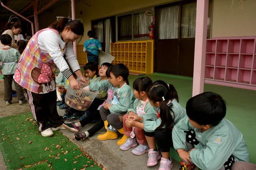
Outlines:
{"label": "thick pale pink pillar rising behind the crouching boy at right", "polygon": [[206,55],[208,0],[196,1],[196,38],[192,96],[204,92],[204,65]]}

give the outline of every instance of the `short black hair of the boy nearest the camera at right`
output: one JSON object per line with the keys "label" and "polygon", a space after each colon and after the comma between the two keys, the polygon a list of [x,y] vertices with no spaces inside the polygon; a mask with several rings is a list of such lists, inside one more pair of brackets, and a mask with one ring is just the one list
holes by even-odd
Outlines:
{"label": "short black hair of the boy nearest the camera at right", "polygon": [[216,126],[226,115],[226,104],[219,94],[204,92],[188,100],[186,112],[199,125]]}

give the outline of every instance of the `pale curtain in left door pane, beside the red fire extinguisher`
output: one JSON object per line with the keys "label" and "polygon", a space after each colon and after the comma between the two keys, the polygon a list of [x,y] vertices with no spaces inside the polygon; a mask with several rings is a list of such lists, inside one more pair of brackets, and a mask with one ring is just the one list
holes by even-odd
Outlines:
{"label": "pale curtain in left door pane, beside the red fire extinguisher", "polygon": [[178,38],[179,6],[171,6],[159,10],[158,36],[159,39]]}

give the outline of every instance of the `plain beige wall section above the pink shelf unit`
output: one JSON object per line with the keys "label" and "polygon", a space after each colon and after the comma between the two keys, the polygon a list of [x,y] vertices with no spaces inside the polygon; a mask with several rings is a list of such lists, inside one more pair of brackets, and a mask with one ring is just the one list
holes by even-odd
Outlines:
{"label": "plain beige wall section above the pink shelf unit", "polygon": [[212,37],[255,36],[256,0],[213,0]]}

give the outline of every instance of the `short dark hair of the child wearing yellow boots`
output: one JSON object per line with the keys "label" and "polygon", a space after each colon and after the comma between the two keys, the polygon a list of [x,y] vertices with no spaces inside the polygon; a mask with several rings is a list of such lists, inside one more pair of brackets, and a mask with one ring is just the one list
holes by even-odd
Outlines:
{"label": "short dark hair of the child wearing yellow boots", "polygon": [[115,64],[112,66],[111,71],[112,74],[117,78],[118,76],[121,76],[124,81],[126,81],[126,84],[129,85],[128,76],[129,76],[129,69],[124,64]]}

